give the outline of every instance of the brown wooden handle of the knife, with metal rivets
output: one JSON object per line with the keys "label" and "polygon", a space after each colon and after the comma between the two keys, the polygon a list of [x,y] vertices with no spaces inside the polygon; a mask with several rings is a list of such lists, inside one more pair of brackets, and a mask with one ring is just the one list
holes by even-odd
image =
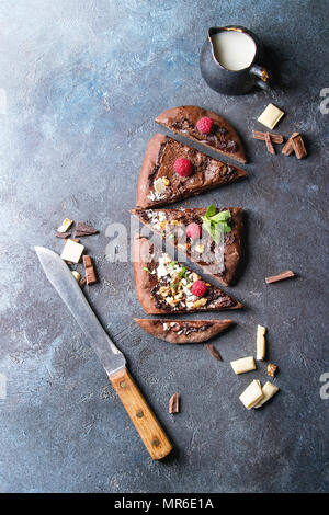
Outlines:
{"label": "brown wooden handle of the knife, with metal rivets", "polygon": [[128,370],[123,368],[112,374],[110,380],[150,457],[164,458],[171,451],[172,445]]}

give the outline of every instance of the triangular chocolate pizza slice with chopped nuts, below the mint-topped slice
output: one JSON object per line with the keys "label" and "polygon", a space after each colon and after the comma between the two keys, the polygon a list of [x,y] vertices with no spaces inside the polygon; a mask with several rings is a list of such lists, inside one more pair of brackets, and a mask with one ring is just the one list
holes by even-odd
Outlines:
{"label": "triangular chocolate pizza slice with chopped nuts, below the mint-topped slice", "polygon": [[134,239],[133,255],[137,297],[149,314],[242,308],[238,300],[202,281],[140,234]]}

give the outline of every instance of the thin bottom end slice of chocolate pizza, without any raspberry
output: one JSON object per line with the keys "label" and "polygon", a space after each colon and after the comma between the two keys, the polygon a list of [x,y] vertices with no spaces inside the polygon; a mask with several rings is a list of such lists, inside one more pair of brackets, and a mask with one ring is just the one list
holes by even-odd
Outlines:
{"label": "thin bottom end slice of chocolate pizza, without any raspberry", "polygon": [[135,322],[151,336],[169,343],[201,343],[225,331],[231,320],[138,319]]}

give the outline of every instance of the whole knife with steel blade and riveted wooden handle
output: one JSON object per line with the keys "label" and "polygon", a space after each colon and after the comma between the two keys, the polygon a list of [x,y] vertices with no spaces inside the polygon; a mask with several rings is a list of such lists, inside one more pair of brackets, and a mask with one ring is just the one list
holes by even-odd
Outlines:
{"label": "whole knife with steel blade and riveted wooden handle", "polygon": [[164,458],[171,451],[172,445],[128,373],[125,356],[102,328],[61,258],[44,247],[35,247],[35,251],[48,281],[67,305],[99,356],[150,457],[152,459]]}

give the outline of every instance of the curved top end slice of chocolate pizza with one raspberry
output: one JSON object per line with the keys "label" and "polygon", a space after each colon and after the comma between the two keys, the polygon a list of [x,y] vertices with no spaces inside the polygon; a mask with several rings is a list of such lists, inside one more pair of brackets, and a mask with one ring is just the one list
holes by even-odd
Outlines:
{"label": "curved top end slice of chocolate pizza with one raspberry", "polygon": [[207,111],[196,105],[182,105],[163,111],[156,123],[163,125],[174,134],[181,134],[185,138],[204,145],[212,150],[247,162],[245,149],[237,131],[227,122],[213,111]]}

